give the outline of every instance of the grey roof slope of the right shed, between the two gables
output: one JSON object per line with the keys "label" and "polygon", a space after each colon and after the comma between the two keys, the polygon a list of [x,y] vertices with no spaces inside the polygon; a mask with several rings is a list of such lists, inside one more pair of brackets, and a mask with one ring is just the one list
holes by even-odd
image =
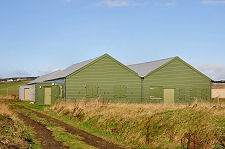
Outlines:
{"label": "grey roof slope of the right shed, between the two gables", "polygon": [[169,62],[170,60],[174,58],[175,57],[146,62],[146,63],[133,64],[133,65],[128,65],[127,67],[129,67],[130,69],[138,73],[139,76],[145,77],[150,72],[154,71],[155,69],[159,68],[160,66],[162,66],[163,64]]}

